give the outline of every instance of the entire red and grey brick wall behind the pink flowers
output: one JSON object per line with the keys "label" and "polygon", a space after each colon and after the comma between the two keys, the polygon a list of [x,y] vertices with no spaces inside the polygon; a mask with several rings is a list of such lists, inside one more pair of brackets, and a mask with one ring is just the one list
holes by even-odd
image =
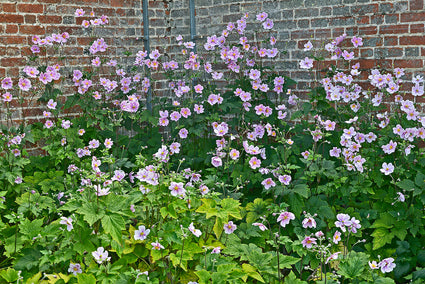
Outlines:
{"label": "entire red and grey brick wall behind the pink flowers", "polygon": [[[275,66],[299,82],[299,92],[311,79],[309,72],[298,68],[299,60],[306,56],[304,43],[311,40],[318,44],[342,33],[364,38],[358,54],[364,68],[378,64],[424,74],[424,0],[195,0],[195,5],[200,44],[205,36],[220,34],[229,21],[246,12],[252,20],[256,13],[267,12],[275,23],[276,46],[286,51],[280,53]],[[99,35],[111,46],[111,56],[121,60],[123,51],[143,49],[142,0],[0,0],[0,78],[19,76],[34,34],[67,31],[75,36],[66,45],[65,51],[74,56],[68,65],[87,60],[81,45],[90,37],[80,28],[81,19],[74,17],[77,8],[109,16],[110,24]],[[174,38],[181,34],[190,39],[189,0],[150,0],[149,17],[151,49],[173,56],[177,50]],[[158,83],[155,88],[164,86]],[[4,113],[4,105],[0,105]],[[22,115],[36,117],[38,113],[34,106],[24,114],[17,109],[13,116],[20,120]]]}

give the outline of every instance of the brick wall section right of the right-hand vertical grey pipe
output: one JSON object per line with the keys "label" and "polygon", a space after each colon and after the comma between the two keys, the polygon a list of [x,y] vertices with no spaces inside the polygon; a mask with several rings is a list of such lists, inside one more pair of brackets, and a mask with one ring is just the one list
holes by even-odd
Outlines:
{"label": "brick wall section right of the right-hand vertical grey pipe", "polygon": [[[176,2],[176,1],[174,1]],[[188,2],[188,1],[181,1]],[[316,46],[343,33],[361,36],[362,68],[405,68],[411,74],[425,74],[425,7],[423,0],[281,0],[233,1],[199,0],[197,30],[200,35],[219,33],[229,21],[242,13],[265,11],[274,20],[280,54],[277,68],[299,82],[305,89],[311,73],[300,72],[299,61],[309,52],[304,44],[311,40]],[[187,4],[186,4],[187,6]],[[186,8],[186,6],[184,6]],[[177,8],[177,7],[176,7]],[[171,15],[180,17],[178,10]],[[223,24],[222,24],[223,23]]]}

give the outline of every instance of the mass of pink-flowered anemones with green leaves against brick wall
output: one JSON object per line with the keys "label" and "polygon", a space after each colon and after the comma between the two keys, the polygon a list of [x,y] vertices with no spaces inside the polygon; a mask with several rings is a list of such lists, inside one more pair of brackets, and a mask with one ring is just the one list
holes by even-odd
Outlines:
{"label": "mass of pink-flowered anemones with green leaves against brick wall", "polygon": [[[96,36],[106,16],[76,17],[93,40],[75,94],[57,85],[66,33],[33,37],[22,78],[1,81],[2,282],[423,281],[422,77],[405,94],[402,69],[365,75],[362,39],[343,35],[306,44],[300,68],[336,64],[301,101],[274,70],[266,13],[258,30],[246,14],[197,54],[179,36],[180,54],[139,51],[131,67]],[[170,95],[152,89],[151,113],[152,78]],[[38,95],[43,120],[12,127],[11,106]],[[36,142],[46,155],[28,155]]]}

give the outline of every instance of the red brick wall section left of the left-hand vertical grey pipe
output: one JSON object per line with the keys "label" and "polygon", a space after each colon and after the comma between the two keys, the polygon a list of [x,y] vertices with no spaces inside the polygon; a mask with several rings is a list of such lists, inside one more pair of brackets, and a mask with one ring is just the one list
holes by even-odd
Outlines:
{"label": "red brick wall section left of the left-hand vertical grey pipe", "polygon": [[[82,8],[86,16],[76,18],[76,9]],[[143,34],[141,1],[139,0],[0,0],[0,79],[12,77],[14,83],[16,78],[22,75],[22,69],[27,64],[29,48],[33,45],[31,37],[37,35],[45,37],[52,33],[68,32],[71,37],[64,44],[62,54],[68,54],[64,63],[71,69],[72,66],[90,64],[87,52],[83,48],[92,41],[92,29],[83,29],[83,19],[90,20],[88,13],[93,11],[96,17],[106,15],[109,24],[102,28],[96,28],[96,34],[105,38],[110,46],[108,54],[118,60],[123,57],[126,50],[143,49],[140,36]],[[52,55],[50,53],[49,55]],[[43,56],[42,56],[43,57]],[[44,59],[43,59],[44,60]],[[49,57],[49,64],[55,62]],[[119,61],[119,63],[121,63]],[[66,70],[65,70],[66,71]],[[65,72],[66,77],[66,72]],[[72,81],[69,78],[63,81]],[[75,87],[64,85],[62,89],[66,93],[76,92]],[[0,93],[4,93],[0,90]],[[13,92],[12,92],[13,93]],[[42,113],[36,101],[33,99],[31,107],[29,98],[24,100],[24,108],[16,108],[12,117],[16,122],[22,121],[23,116],[31,120]],[[17,106],[12,101],[12,106]],[[5,118],[5,105],[1,99],[0,121]]]}

